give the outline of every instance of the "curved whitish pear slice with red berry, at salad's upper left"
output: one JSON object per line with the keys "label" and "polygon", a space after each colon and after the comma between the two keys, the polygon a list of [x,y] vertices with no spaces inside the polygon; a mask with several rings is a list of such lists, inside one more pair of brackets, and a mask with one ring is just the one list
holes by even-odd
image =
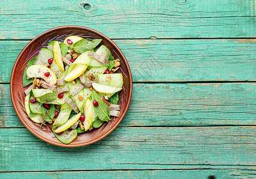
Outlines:
{"label": "curved whitish pear slice with red berry, at salad's upper left", "polygon": [[[48,77],[44,75],[46,72],[50,73]],[[28,76],[28,78],[43,78],[44,81],[46,81],[50,85],[55,85],[57,82],[57,78],[53,71],[41,64],[34,64],[28,67],[28,69],[26,70],[26,75]]]}

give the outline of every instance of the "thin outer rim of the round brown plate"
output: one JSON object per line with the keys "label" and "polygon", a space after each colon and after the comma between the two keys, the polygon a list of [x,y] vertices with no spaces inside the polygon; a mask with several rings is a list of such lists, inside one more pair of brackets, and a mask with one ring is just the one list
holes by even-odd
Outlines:
{"label": "thin outer rim of the round brown plate", "polygon": [[[32,128],[29,127],[28,124],[26,124],[26,122],[23,120],[22,116],[20,116],[20,113],[18,112],[18,108],[17,105],[14,101],[14,94],[13,94],[13,78],[14,78],[14,70],[16,70],[17,64],[19,62],[18,59],[20,59],[20,57],[23,55],[23,53],[25,52],[25,50],[29,47],[29,45],[31,45],[32,43],[34,43],[34,41],[36,41],[38,38],[41,38],[41,36],[46,35],[49,32],[53,32],[55,30],[59,30],[59,29],[83,29],[83,30],[88,30],[91,31],[93,33],[97,33],[100,36],[103,36],[103,38],[105,38],[108,42],[110,42],[110,44],[112,44],[117,50],[118,52],[121,54],[121,57],[124,59],[125,62],[125,66],[127,67],[127,71],[128,71],[128,76],[129,76],[129,96],[128,96],[128,101],[124,110],[124,113],[122,113],[121,118],[119,119],[119,121],[109,130],[107,131],[105,134],[101,135],[100,137],[96,138],[95,140],[86,142],[86,143],[82,143],[82,144],[74,144],[74,145],[70,145],[70,144],[59,144],[59,143],[55,143],[54,141],[48,140],[44,137],[42,137],[41,135],[38,135],[36,132],[34,132],[34,130]],[[20,121],[22,122],[22,124],[26,127],[26,129],[28,129],[33,135],[35,135],[36,137],[40,138],[43,141],[46,141],[47,143],[53,144],[55,146],[59,146],[59,147],[82,147],[82,146],[87,146],[89,144],[95,143],[101,139],[103,139],[104,137],[106,137],[107,135],[109,135],[122,121],[122,119],[124,119],[125,114],[127,113],[127,110],[129,108],[129,104],[131,103],[131,96],[132,96],[132,75],[131,75],[131,69],[129,67],[128,61],[125,58],[125,55],[122,53],[122,51],[120,50],[120,48],[118,47],[118,45],[115,44],[115,42],[113,42],[110,38],[108,38],[106,35],[104,35],[101,32],[98,32],[97,30],[91,29],[89,27],[84,27],[84,26],[59,26],[59,27],[54,27],[52,29],[46,30],[45,32],[41,33],[40,35],[36,36],[34,39],[32,39],[24,48],[23,50],[20,52],[20,54],[18,55],[18,57],[16,58],[16,61],[14,63],[13,66],[13,70],[11,71],[11,79],[10,79],[10,95],[11,95],[11,103],[13,104],[14,110],[16,112],[16,115],[18,116],[18,118],[20,119]],[[72,143],[72,142],[71,142]]]}

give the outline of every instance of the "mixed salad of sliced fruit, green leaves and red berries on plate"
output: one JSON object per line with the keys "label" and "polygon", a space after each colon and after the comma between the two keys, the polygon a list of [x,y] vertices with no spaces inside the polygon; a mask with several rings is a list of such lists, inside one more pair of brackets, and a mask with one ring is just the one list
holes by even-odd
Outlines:
{"label": "mixed salad of sliced fruit, green leaves and red berries on plate", "polygon": [[41,126],[52,125],[64,144],[120,115],[120,60],[101,40],[68,36],[64,42],[51,41],[24,70],[26,113]]}

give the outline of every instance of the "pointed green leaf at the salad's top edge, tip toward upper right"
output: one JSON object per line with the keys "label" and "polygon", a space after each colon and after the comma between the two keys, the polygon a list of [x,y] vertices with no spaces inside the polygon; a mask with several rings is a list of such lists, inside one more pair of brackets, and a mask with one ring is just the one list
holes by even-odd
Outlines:
{"label": "pointed green leaf at the salad's top edge, tip toward upper right", "polygon": [[102,39],[93,39],[92,41],[89,41],[88,39],[81,39],[74,44],[73,48],[76,53],[82,54],[85,51],[94,50],[101,41]]}

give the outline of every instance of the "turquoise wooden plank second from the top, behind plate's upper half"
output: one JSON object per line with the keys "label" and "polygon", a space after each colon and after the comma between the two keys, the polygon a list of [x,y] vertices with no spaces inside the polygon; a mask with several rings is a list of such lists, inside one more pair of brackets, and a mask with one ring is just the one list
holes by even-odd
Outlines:
{"label": "turquoise wooden plank second from the top, behind plate's upper half", "polygon": [[[0,82],[29,41],[0,41]],[[255,81],[256,39],[115,40],[134,82]],[[8,61],[8,63],[7,63]]]}

